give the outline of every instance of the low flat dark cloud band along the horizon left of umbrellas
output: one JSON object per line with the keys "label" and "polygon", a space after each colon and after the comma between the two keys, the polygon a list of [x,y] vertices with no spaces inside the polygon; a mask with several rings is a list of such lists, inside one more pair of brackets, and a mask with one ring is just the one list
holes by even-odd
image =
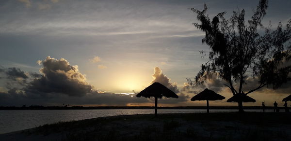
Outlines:
{"label": "low flat dark cloud band along the horizon left of umbrellas", "polygon": [[[132,97],[131,97],[132,96]],[[0,92],[0,106],[22,106],[26,105],[108,105],[127,106],[128,103],[147,103],[150,99],[137,99],[135,95],[123,95],[114,93],[92,92],[83,97],[70,97],[59,93],[58,95],[49,93],[35,94],[26,92]]]}

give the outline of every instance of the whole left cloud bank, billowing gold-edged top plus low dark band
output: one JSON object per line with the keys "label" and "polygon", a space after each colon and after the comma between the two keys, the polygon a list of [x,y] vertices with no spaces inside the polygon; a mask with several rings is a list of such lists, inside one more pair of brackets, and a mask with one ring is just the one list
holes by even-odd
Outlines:
{"label": "whole left cloud bank, billowing gold-edged top plus low dark band", "polygon": [[50,56],[37,61],[41,65],[40,73],[24,72],[18,68],[0,66],[0,74],[9,84],[16,84],[22,78],[25,85],[10,85],[0,89],[0,106],[56,105],[71,103],[76,105],[96,104],[126,106],[129,103],[148,103],[150,99],[137,99],[135,93],[116,94],[99,93],[86,78],[64,59]]}

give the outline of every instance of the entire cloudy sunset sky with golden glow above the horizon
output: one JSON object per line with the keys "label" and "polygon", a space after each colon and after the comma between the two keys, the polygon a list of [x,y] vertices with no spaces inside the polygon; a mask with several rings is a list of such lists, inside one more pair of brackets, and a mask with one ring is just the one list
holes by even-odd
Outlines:
{"label": "entire cloudy sunset sky with golden glow above the horizon", "polygon": [[[226,102],[232,94],[223,81],[198,87],[186,81],[208,61],[199,52],[209,50],[205,33],[192,25],[198,21],[188,9],[204,3],[210,17],[245,9],[247,18],[258,0],[1,0],[0,106],[153,106],[134,94],[152,82],[179,96],[160,106],[204,106],[190,101],[204,88],[226,97],[210,105],[236,106]],[[286,25],[290,6],[270,0],[263,24]],[[257,102],[244,105],[280,106],[290,90],[290,84],[262,88],[249,94]]]}

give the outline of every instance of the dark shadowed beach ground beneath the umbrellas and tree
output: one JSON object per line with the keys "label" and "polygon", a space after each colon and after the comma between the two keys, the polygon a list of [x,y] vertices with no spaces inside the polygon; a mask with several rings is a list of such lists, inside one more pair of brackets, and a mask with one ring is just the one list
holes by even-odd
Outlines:
{"label": "dark shadowed beach ground beneath the umbrellas and tree", "polygon": [[121,115],[0,135],[1,141],[290,141],[291,113]]}

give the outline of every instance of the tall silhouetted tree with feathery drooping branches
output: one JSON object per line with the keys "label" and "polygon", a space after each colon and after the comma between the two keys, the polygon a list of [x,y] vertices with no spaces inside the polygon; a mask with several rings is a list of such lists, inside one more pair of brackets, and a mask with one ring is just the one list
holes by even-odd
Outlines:
{"label": "tall silhouetted tree with feathery drooping branches", "polygon": [[[282,28],[281,22],[273,31],[271,25],[264,27],[261,20],[267,7],[268,0],[259,0],[257,9],[247,23],[244,9],[233,12],[229,19],[222,12],[210,20],[206,5],[202,11],[190,8],[201,22],[193,25],[205,32],[202,43],[210,46],[210,60],[201,66],[195,80],[187,79],[188,82],[201,85],[216,74],[226,80],[226,86],[236,95],[243,93],[246,78],[258,79],[258,87],[246,92],[247,95],[266,85],[276,89],[290,81],[288,74],[291,66],[286,62],[291,58],[291,20],[286,29]],[[242,102],[238,102],[238,105],[242,112]]]}

